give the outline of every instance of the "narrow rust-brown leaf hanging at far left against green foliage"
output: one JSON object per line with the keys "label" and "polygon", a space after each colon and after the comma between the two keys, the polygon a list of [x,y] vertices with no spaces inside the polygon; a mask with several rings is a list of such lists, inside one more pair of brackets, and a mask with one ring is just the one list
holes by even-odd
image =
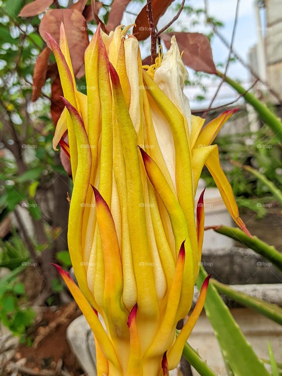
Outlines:
{"label": "narrow rust-brown leaf hanging at far left against green foliage", "polygon": [[42,86],[46,80],[46,74],[48,70],[48,61],[51,55],[51,51],[48,47],[45,47],[41,54],[36,59],[36,63],[33,71],[33,90],[32,101],[34,102],[40,97]]}

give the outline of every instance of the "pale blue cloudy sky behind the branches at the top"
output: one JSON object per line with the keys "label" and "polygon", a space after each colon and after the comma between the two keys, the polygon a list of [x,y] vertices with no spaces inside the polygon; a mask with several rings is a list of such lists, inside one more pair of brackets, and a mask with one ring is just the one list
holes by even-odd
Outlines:
{"label": "pale blue cloudy sky behind the branches at the top", "polygon": [[[67,0],[60,0],[60,3],[63,3]],[[103,0],[103,3],[110,4],[111,0]],[[181,3],[181,0],[175,0],[173,4],[170,6],[168,11],[165,13],[163,17],[160,18],[159,23],[157,25],[158,29],[161,29],[165,24],[167,24],[173,16],[176,14],[174,10],[175,4]],[[239,6],[239,13],[237,19],[237,27],[235,33],[235,39],[233,42],[233,50],[237,52],[244,61],[248,61],[249,59],[249,50],[253,45],[256,44],[257,38],[257,30],[256,30],[256,22],[255,22],[255,12],[253,7],[254,0],[241,0]],[[224,26],[220,29],[220,32],[224,35],[224,37],[230,42],[232,29],[234,24],[235,18],[235,10],[236,10],[237,0],[208,0],[208,14],[211,17],[215,17],[217,20],[221,21]],[[186,0],[185,5],[192,6],[195,9],[204,8],[204,0]],[[138,14],[139,11],[143,8],[144,3],[136,3],[132,2],[126,8],[124,13],[124,17],[122,23],[124,25],[128,25],[130,23],[134,23],[135,16],[129,14],[132,12],[134,14]],[[263,15],[261,15],[263,20]],[[173,24],[173,29],[176,31],[182,31],[183,26],[187,26],[188,16],[182,12],[179,19]],[[204,23],[191,27],[189,29],[191,32],[203,32],[208,33],[209,31],[204,29]],[[144,42],[141,45],[141,55],[142,58],[145,58],[149,55],[150,41]],[[226,63],[227,56],[229,50],[227,47],[220,41],[220,39],[215,36],[212,39],[212,53],[215,64],[218,63]],[[221,68],[224,70],[224,68]],[[193,70],[188,68],[188,72],[190,76],[193,76]],[[232,62],[229,64],[229,68],[227,71],[228,76],[233,79],[239,79],[242,85],[247,89],[252,85],[252,80],[250,77],[249,72],[246,68],[244,68],[240,62]],[[199,102],[195,100],[197,95],[202,95],[203,92],[200,88],[195,86],[193,87],[186,87],[185,93],[190,99],[190,106],[192,109],[199,109],[199,108],[206,108],[209,105],[210,99],[212,98],[218,83],[220,83],[221,79],[215,79],[215,77],[211,76],[208,79],[204,79],[202,84],[208,87],[207,92],[205,93],[205,100]],[[222,105],[223,103],[231,102],[232,100],[236,99],[238,94],[231,89],[227,84],[223,84],[220,92],[215,100],[213,106]],[[240,102],[241,101],[241,102]],[[242,103],[243,100],[241,99],[238,103]]]}

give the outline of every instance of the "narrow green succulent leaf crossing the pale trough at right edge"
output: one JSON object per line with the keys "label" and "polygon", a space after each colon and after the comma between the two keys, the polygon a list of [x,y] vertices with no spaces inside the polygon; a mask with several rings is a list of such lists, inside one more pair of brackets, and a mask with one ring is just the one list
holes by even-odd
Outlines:
{"label": "narrow green succulent leaf crossing the pale trough at right edge", "polygon": [[215,279],[211,279],[210,283],[214,285],[221,294],[232,297],[237,302],[246,307],[250,307],[262,315],[270,318],[276,323],[282,325],[282,308],[276,304],[265,302],[265,300],[254,298],[240,291],[233,290],[232,287],[224,285]]}

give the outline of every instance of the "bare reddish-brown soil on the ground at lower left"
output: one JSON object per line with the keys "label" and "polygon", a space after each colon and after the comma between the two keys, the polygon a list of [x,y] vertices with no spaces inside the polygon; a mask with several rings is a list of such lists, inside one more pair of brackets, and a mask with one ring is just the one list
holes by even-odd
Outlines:
{"label": "bare reddish-brown soil on the ground at lower left", "polygon": [[[70,303],[72,305],[73,303]],[[62,368],[73,376],[83,374],[76,358],[71,352],[66,339],[66,329],[71,321],[81,314],[76,305],[71,307],[71,313],[59,325],[58,319],[64,316],[65,311],[70,311],[70,305],[61,307],[56,311],[48,309],[41,312],[36,327],[33,328],[31,334],[34,340],[33,345],[20,345],[17,349],[14,361],[26,358],[26,367],[33,370],[55,370],[56,364],[62,360]],[[62,320],[59,320],[59,322]],[[35,342],[39,342],[38,346],[34,346]],[[23,373],[22,373],[23,374]]]}

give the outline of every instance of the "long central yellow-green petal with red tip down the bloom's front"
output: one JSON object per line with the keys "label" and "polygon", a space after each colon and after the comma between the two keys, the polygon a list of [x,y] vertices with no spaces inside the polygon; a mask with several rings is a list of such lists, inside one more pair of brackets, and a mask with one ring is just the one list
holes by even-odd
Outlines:
{"label": "long central yellow-green petal with red tip down the bloom's front", "polygon": [[117,72],[110,63],[109,69],[126,165],[127,216],[138,291],[138,308],[145,317],[158,317],[158,298],[156,290],[152,288],[154,286],[153,271],[147,266],[151,265],[152,260],[149,254],[144,206],[140,205],[144,203],[144,196],[137,154],[137,135],[127,110]]}

